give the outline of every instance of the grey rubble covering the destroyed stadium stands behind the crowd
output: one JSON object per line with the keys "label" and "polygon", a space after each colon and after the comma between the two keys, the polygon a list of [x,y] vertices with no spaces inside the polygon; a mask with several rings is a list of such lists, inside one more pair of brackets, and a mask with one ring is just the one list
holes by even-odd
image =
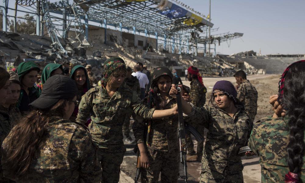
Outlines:
{"label": "grey rubble covering the destroyed stadium stands behind the crowd", "polygon": [[0,61],[6,61],[16,66],[23,60],[33,60],[43,68],[46,64],[55,62],[70,62],[92,66],[96,78],[102,75],[102,66],[106,59],[118,56],[124,59],[127,66],[133,68],[137,62],[142,62],[153,70],[156,66],[168,66],[180,70],[193,65],[199,68],[203,75],[233,75],[235,65],[220,58],[192,56],[190,54],[163,53],[156,49],[142,50],[134,46],[126,47],[116,42],[103,44],[99,39],[90,40],[89,46],[80,45],[73,38],[59,39],[63,49],[56,48],[50,37],[0,32]]}

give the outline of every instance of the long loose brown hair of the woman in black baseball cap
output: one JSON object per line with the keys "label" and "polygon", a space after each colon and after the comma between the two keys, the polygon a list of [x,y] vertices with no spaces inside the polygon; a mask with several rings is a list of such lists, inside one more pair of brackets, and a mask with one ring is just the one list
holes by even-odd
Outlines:
{"label": "long loose brown hair of the woman in black baseball cap", "polygon": [[52,108],[34,110],[20,120],[13,128],[5,142],[3,164],[8,164],[8,171],[17,177],[27,174],[27,171],[39,150],[45,145],[47,124],[53,117],[63,118],[65,106],[72,99],[61,99]]}

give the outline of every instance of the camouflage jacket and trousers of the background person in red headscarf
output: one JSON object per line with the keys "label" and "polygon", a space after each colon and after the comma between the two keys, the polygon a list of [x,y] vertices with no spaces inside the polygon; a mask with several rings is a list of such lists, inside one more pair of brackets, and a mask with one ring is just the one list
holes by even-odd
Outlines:
{"label": "camouflage jacket and trousers of the background person in red headscarf", "polygon": [[[206,87],[203,86],[197,79],[193,79],[191,82],[191,91],[190,91],[191,103],[196,107],[203,107],[206,103]],[[204,127],[199,125],[196,127],[196,130],[203,136]],[[194,143],[192,141],[191,134],[188,132],[188,137],[186,138],[187,150],[189,154],[194,154]],[[203,151],[203,142],[197,143],[197,156],[200,160],[202,157]]]}

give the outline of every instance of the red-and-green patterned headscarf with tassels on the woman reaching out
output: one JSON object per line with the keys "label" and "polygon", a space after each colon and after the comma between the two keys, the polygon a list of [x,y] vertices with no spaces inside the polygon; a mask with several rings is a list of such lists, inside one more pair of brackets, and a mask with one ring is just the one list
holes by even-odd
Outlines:
{"label": "red-and-green patterned headscarf with tassels on the woman reaching out", "polygon": [[111,57],[105,61],[104,64],[104,77],[101,79],[101,84],[106,87],[106,83],[110,80],[111,76],[126,72],[126,65],[120,57]]}

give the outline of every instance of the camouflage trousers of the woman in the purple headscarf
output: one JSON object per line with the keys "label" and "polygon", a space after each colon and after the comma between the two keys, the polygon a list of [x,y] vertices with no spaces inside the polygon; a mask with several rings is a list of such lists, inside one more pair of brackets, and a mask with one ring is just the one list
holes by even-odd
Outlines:
{"label": "camouflage trousers of the woman in the purple headscarf", "polygon": [[242,169],[227,167],[223,173],[212,170],[207,163],[202,160],[200,183],[243,183]]}

